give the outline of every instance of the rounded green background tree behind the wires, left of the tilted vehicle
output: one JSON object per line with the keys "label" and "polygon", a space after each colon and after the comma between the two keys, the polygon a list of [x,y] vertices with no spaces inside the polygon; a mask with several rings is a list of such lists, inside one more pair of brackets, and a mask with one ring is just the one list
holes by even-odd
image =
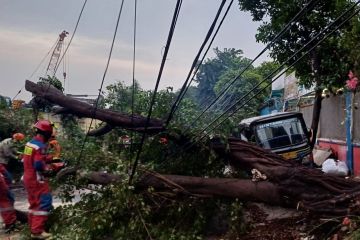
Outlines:
{"label": "rounded green background tree behind the wires, left of the tilted vehicle", "polygon": [[[251,59],[244,57],[242,50],[234,48],[225,48],[224,50],[215,48],[214,52],[215,57],[207,59],[197,73],[196,100],[198,106],[200,106],[199,111],[202,111],[205,106],[212,103],[216,97],[222,96],[214,107],[208,110],[200,121],[197,122],[199,127],[204,127],[225,110],[229,109],[232,104],[253,90],[254,86],[262,82],[278,67],[278,64],[275,62],[264,62],[258,67],[249,66]],[[246,67],[248,67],[247,70],[240,75]],[[267,80],[248,94],[244,101],[248,100],[271,81],[270,78]],[[234,84],[223,94],[224,89],[228,88],[232,82]],[[231,120],[227,121],[228,124],[223,125],[223,127],[231,131],[240,119],[257,115],[259,106],[264,102],[265,98],[270,96],[270,90],[271,87],[254,97]],[[222,132],[224,132],[224,128]]]}

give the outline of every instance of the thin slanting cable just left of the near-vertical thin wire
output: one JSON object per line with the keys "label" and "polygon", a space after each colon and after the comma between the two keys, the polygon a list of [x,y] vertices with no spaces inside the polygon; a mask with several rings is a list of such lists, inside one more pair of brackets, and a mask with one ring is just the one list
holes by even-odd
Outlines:
{"label": "thin slanting cable just left of the near-vertical thin wire", "polygon": [[119,13],[118,13],[118,16],[117,16],[117,21],[116,21],[114,36],[113,36],[112,42],[111,42],[111,47],[110,47],[109,56],[108,56],[108,59],[107,59],[105,71],[104,71],[104,74],[103,74],[103,77],[102,77],[102,80],[101,80],[101,85],[100,85],[100,88],[99,88],[99,94],[98,94],[98,97],[97,97],[96,102],[95,102],[95,107],[93,108],[93,111],[92,111],[92,117],[91,117],[90,125],[89,125],[89,128],[88,128],[88,130],[87,130],[87,133],[86,133],[86,135],[85,135],[85,138],[84,138],[84,140],[83,140],[83,142],[82,142],[81,149],[80,149],[80,153],[79,153],[78,159],[77,159],[77,161],[76,161],[76,165],[79,164],[79,161],[80,161],[80,159],[81,159],[81,157],[82,157],[82,153],[83,153],[83,150],[84,150],[84,147],[85,147],[85,143],[86,143],[86,141],[87,141],[89,132],[90,132],[90,130],[91,130],[91,125],[92,125],[92,123],[93,123],[94,117],[95,117],[95,115],[96,115],[96,110],[97,110],[98,105],[99,105],[99,99],[100,99],[100,96],[101,96],[101,92],[102,92],[102,88],[103,88],[103,85],[104,85],[105,77],[106,77],[106,74],[107,74],[107,71],[108,71],[108,68],[109,68],[109,65],[110,65],[111,55],[112,55],[112,51],[113,51],[113,48],[114,48],[114,43],[115,43],[115,39],[116,39],[116,34],[117,34],[119,22],[120,22],[120,17],[121,17],[123,5],[124,5],[124,0],[121,1],[121,6],[120,6],[120,10],[119,10]]}

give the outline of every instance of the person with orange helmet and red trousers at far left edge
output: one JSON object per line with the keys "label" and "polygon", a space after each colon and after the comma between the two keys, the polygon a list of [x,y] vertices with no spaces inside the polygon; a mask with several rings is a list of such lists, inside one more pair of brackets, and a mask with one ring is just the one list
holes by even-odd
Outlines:
{"label": "person with orange helmet and red trousers at far left edge", "polygon": [[16,221],[14,194],[10,190],[12,176],[6,167],[10,160],[17,159],[15,143],[24,138],[24,134],[15,133],[12,138],[4,139],[0,143],[0,213],[5,223],[5,233],[20,229],[20,225]]}

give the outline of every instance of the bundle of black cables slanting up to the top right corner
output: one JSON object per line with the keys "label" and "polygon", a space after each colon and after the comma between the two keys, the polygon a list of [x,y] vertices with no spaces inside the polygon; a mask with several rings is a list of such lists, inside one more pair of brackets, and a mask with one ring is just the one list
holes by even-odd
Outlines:
{"label": "bundle of black cables slanting up to the top right corner", "polygon": [[[323,34],[326,30],[328,30],[330,27],[332,27],[339,19],[341,19],[343,16],[345,16],[346,14],[348,14],[348,12],[350,12],[353,8],[355,8],[358,4],[360,3],[360,0],[357,1],[356,3],[354,3],[347,11],[345,11],[344,13],[342,13],[340,16],[338,16],[332,23],[330,23],[329,25],[327,25],[321,32],[319,32],[315,37],[313,37],[306,45],[304,45],[301,49],[299,49],[296,53],[294,53],[291,57],[289,57],[285,63],[289,62],[291,59],[293,59],[293,57],[295,55],[297,55],[300,51],[302,51],[305,47],[307,47],[308,45],[310,45],[314,39],[318,38],[321,34]],[[261,91],[263,91],[265,88],[267,88],[272,82],[274,82],[275,80],[277,80],[280,76],[282,76],[287,70],[289,70],[291,67],[293,67],[297,62],[299,62],[303,57],[305,57],[310,51],[312,51],[315,47],[317,47],[319,44],[321,44],[325,39],[327,39],[332,33],[334,33],[336,30],[338,30],[342,25],[344,25],[347,21],[349,21],[351,18],[353,18],[357,13],[359,13],[360,9],[357,9],[354,13],[352,13],[350,16],[348,16],[343,22],[341,22],[335,29],[333,29],[332,31],[330,31],[329,33],[327,33],[321,40],[319,40],[314,46],[312,46],[308,51],[306,51],[305,54],[303,54],[300,58],[298,58],[297,60],[295,60],[289,67],[287,67],[281,74],[277,75],[277,77],[275,79],[273,79],[270,83],[268,83],[265,87],[263,87],[262,89],[260,89],[258,92],[256,92],[250,99],[248,99],[248,101],[244,102],[243,104],[241,104],[241,106],[239,106],[237,109],[235,109],[227,118],[225,118],[224,120],[222,120],[220,123],[218,123],[215,127],[211,128],[210,131],[214,130],[215,128],[219,127],[225,120],[227,120],[229,117],[233,116],[237,111],[239,111],[243,106],[245,106],[250,100],[252,100],[252,98],[254,98],[255,96],[257,96]],[[284,64],[283,64],[284,65]],[[283,65],[281,65],[280,67],[282,67]],[[279,67],[279,68],[280,68]],[[278,69],[279,69],[278,68]],[[275,70],[276,71],[276,70]],[[274,72],[273,72],[274,73]],[[273,74],[271,73],[267,78],[270,78],[271,75]],[[253,92],[254,89],[250,90],[248,93]],[[248,94],[247,94],[248,95]],[[227,111],[230,111],[234,106],[236,106],[236,104],[238,104],[240,101],[242,101],[243,98],[241,98],[240,100],[238,100],[235,104],[233,104]],[[226,112],[225,112],[226,113]],[[197,141],[202,140],[204,137],[206,137],[206,135],[200,136],[202,133],[204,133],[212,124],[214,124],[217,120],[220,119],[220,117],[224,116],[225,113],[221,114],[221,116],[217,117],[214,121],[212,121],[206,128],[204,128],[203,130],[201,130],[199,133],[196,134],[195,139],[197,139]],[[187,145],[187,146],[186,146]],[[179,151],[186,151],[187,149],[189,149],[190,147],[192,147],[194,145],[194,143],[187,143],[184,146],[182,146]],[[174,156],[174,154],[172,154],[170,157]]]}

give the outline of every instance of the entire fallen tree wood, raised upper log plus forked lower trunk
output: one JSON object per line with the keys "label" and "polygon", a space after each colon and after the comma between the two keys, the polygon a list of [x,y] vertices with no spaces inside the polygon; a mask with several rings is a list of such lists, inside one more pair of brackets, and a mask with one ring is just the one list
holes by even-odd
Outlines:
{"label": "entire fallen tree wood, raised upper log plus forked lower trunk", "polygon": [[[144,131],[146,118],[131,116],[98,109],[86,103],[64,96],[60,91],[48,85],[39,85],[26,81],[28,91],[68,111],[85,117],[104,121],[107,126],[100,132],[112,127],[123,127],[133,131]],[[152,132],[163,130],[160,120],[151,120]],[[224,145],[214,145],[220,156],[229,159],[236,170],[250,172],[256,169],[266,176],[266,181],[254,182],[250,179],[201,178],[178,175],[159,175],[145,173],[139,178],[138,189],[153,187],[156,190],[168,190],[197,196],[230,197],[243,201],[260,201],[280,206],[290,206],[319,214],[346,215],[360,213],[360,184],[341,177],[328,176],[317,169],[310,169],[292,161],[287,161],[250,143],[239,139],[229,139],[229,151]],[[77,168],[68,174],[78,172]],[[94,172],[85,177],[91,183],[123,184],[120,176]],[[264,178],[265,179],[265,178]],[[258,179],[259,180],[259,179]],[[260,179],[261,180],[261,179]],[[126,183],[127,184],[127,183]]]}

